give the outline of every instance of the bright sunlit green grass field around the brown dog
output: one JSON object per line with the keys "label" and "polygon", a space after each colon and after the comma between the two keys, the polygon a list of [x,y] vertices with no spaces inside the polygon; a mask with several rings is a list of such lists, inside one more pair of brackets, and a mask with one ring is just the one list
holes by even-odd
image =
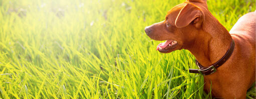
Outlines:
{"label": "bright sunlit green grass field around the brown dog", "polygon": [[[160,53],[144,32],[184,1],[0,0],[0,98],[209,98],[194,56]],[[207,3],[227,30],[255,10]]]}

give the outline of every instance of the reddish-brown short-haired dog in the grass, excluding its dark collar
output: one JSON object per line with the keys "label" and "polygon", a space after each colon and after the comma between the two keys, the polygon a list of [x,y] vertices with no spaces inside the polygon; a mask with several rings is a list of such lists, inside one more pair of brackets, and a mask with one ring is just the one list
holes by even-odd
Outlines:
{"label": "reddish-brown short-haired dog in the grass, excluding its dark collar", "polygon": [[204,76],[204,90],[212,87],[216,97],[245,98],[255,82],[255,19],[255,12],[243,15],[230,34],[209,12],[206,0],[187,0],[145,31],[152,39],[166,40],[158,45],[160,52],[188,49],[204,66],[218,61],[233,39],[233,53],[216,72]]}

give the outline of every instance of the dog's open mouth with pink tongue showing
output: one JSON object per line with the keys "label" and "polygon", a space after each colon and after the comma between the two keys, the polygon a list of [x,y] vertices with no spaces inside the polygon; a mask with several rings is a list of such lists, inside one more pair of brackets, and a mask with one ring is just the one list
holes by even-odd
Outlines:
{"label": "dog's open mouth with pink tongue showing", "polygon": [[178,42],[176,40],[166,40],[165,42],[162,42],[158,44],[157,50],[160,52],[171,52],[176,46],[178,45]]}

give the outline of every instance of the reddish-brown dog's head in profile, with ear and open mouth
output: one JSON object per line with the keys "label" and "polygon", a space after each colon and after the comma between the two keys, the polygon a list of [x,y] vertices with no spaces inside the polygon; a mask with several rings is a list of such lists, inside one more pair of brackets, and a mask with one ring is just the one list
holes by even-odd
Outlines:
{"label": "reddish-brown dog's head in profile, with ear and open mouth", "polygon": [[165,20],[145,28],[148,36],[155,40],[166,40],[157,46],[160,52],[168,53],[193,43],[202,29],[204,11],[208,11],[206,0],[187,0],[174,6]]}

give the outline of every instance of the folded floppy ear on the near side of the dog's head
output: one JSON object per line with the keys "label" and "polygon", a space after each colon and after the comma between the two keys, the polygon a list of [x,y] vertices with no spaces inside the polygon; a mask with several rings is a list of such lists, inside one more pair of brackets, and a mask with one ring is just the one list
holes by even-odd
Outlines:
{"label": "folded floppy ear on the near side of the dog's head", "polygon": [[197,28],[201,27],[204,20],[203,11],[192,3],[187,3],[178,14],[175,25],[176,27],[185,27],[193,23]]}

